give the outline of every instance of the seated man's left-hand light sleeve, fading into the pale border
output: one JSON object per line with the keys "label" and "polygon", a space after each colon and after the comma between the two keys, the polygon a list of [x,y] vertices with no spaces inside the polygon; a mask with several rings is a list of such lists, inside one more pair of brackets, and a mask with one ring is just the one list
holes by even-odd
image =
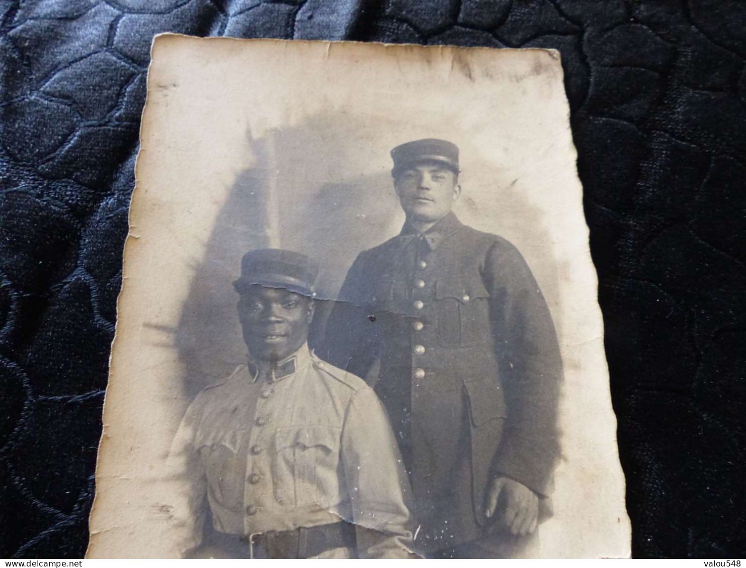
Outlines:
{"label": "seated man's left-hand light sleeve, fading into the pale border", "polygon": [[200,545],[204,526],[204,500],[207,481],[204,466],[195,449],[195,433],[201,414],[201,395],[189,405],[174,437],[166,461],[167,487],[172,507],[169,509],[169,537],[175,555],[185,558]]}

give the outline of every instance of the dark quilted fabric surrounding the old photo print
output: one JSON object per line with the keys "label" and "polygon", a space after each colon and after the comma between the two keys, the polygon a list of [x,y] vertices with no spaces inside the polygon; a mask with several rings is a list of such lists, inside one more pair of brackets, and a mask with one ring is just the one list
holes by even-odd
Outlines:
{"label": "dark quilted fabric surrounding the old photo print", "polygon": [[637,557],[746,555],[746,3],[0,0],[0,556],[84,555],[154,33],[557,48]]}

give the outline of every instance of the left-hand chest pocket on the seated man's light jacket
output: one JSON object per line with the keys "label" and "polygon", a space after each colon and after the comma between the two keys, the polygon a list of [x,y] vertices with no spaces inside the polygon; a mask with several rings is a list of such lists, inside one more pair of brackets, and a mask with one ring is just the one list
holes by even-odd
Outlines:
{"label": "left-hand chest pocket on the seated man's light jacket", "polygon": [[227,507],[243,502],[245,458],[239,451],[244,431],[235,428],[201,430],[195,438],[207,483],[213,495]]}

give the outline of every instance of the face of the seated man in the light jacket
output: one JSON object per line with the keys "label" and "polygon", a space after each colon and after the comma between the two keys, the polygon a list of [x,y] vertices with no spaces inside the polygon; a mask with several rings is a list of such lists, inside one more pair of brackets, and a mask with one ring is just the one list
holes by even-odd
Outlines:
{"label": "face of the seated man in the light jacket", "polygon": [[238,317],[251,357],[279,361],[306,341],[313,301],[284,288],[255,285],[241,293]]}

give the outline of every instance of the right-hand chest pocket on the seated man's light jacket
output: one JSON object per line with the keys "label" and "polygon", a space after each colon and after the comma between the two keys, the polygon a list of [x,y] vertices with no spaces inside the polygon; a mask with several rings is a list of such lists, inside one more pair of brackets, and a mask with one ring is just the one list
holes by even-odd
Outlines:
{"label": "right-hand chest pocket on the seated man's light jacket", "polygon": [[339,436],[328,426],[278,428],[272,477],[280,505],[328,508],[339,500]]}

